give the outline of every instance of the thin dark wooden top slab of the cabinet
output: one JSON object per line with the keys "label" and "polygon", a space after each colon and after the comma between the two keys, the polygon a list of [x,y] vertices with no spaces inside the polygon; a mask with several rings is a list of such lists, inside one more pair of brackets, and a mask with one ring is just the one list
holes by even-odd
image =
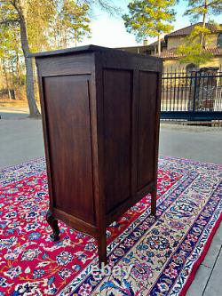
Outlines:
{"label": "thin dark wooden top slab of the cabinet", "polygon": [[80,53],[80,52],[113,52],[113,53],[122,53],[122,54],[128,54],[131,56],[137,56],[141,58],[147,58],[147,59],[152,59],[152,60],[161,60],[160,58],[157,57],[152,57],[152,56],[144,56],[141,54],[135,54],[131,52],[124,52],[121,50],[113,49],[113,48],[108,48],[108,47],[102,47],[102,46],[97,46],[97,45],[85,45],[85,46],[77,46],[77,47],[71,47],[67,48],[64,50],[58,50],[58,51],[50,51],[50,52],[36,52],[36,53],[30,53],[28,54],[28,58],[44,58],[44,57],[52,57],[52,56],[58,56],[58,55],[68,55],[68,54],[75,54],[75,53]]}

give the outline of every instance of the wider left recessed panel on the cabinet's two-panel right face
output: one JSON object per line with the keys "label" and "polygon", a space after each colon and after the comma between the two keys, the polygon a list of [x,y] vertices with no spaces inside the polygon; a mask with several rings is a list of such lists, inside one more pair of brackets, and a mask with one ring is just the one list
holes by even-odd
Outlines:
{"label": "wider left recessed panel on the cabinet's two-panel right face", "polygon": [[106,211],[131,198],[132,73],[104,69],[104,183]]}

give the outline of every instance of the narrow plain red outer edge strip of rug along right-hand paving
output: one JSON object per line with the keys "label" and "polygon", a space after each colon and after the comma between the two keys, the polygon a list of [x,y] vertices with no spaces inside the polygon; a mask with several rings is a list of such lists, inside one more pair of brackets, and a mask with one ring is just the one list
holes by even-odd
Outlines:
{"label": "narrow plain red outer edge strip of rug along right-hand paving", "polygon": [[204,258],[207,255],[207,252],[210,249],[210,244],[212,243],[213,237],[215,236],[216,231],[218,230],[219,226],[220,226],[220,222],[222,220],[222,213],[220,213],[217,222],[215,223],[214,227],[212,228],[211,232],[210,232],[210,236],[207,240],[207,243],[204,245],[203,249],[202,249],[202,254],[199,257],[198,260],[196,260],[194,262],[194,266],[191,270],[191,274],[190,276],[187,278],[186,284],[183,286],[182,290],[179,292],[179,296],[186,296],[186,292],[188,291],[189,287],[191,286],[191,284],[194,281],[194,277],[195,274],[198,270],[198,268],[200,267],[200,265],[202,264],[202,261],[204,260]]}

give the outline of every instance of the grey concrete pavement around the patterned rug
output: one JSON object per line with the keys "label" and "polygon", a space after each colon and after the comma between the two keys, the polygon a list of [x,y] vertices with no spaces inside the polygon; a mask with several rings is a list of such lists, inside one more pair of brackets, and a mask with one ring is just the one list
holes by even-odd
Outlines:
{"label": "grey concrete pavement around the patterned rug", "polygon": [[[0,119],[0,169],[44,156],[42,122],[26,116],[26,113],[20,112],[19,116],[6,114],[2,118],[7,119]],[[159,152],[163,156],[222,164],[222,128],[161,124]],[[193,284],[186,293],[187,296],[222,295],[221,248],[220,226],[205,260],[197,270]]]}

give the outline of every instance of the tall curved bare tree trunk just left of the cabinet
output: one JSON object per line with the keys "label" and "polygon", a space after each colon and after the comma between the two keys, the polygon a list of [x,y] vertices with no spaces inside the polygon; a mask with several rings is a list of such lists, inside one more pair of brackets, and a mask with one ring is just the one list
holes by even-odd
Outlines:
{"label": "tall curved bare tree trunk just left of the cabinet", "polygon": [[22,9],[19,6],[16,6],[17,11],[20,14],[20,41],[22,52],[25,57],[26,65],[26,87],[27,87],[27,100],[30,117],[40,116],[40,112],[36,105],[35,100],[35,88],[34,88],[34,68],[32,59],[28,58],[29,46],[28,46],[28,36],[27,36],[27,27],[26,20],[23,15]]}

